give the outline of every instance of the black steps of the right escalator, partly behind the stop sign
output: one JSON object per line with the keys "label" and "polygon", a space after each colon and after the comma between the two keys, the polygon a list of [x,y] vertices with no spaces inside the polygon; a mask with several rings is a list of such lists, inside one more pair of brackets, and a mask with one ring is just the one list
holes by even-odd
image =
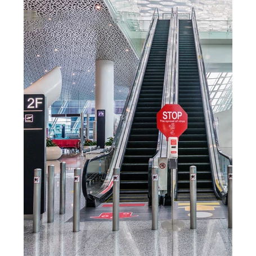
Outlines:
{"label": "black steps of the right escalator, partly behind the stop sign", "polygon": [[178,104],[188,115],[188,127],[179,137],[177,200],[190,200],[190,166],[196,166],[197,200],[216,200],[192,20],[179,20]]}

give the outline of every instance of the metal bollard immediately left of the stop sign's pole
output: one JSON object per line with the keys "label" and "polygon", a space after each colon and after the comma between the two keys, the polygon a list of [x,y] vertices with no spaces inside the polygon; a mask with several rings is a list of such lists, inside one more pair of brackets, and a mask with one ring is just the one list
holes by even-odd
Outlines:
{"label": "metal bollard immediately left of the stop sign's pole", "polygon": [[158,167],[152,168],[152,230],[158,230]]}

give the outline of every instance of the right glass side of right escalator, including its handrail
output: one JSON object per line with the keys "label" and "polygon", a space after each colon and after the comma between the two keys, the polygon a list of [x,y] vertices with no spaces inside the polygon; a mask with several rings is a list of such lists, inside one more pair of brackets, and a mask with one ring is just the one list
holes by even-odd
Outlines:
{"label": "right glass side of right escalator, including its handrail", "polygon": [[199,66],[199,77],[201,84],[201,92],[204,105],[204,115],[205,115],[205,125],[206,125],[206,134],[208,137],[208,147],[209,147],[209,156],[210,164],[212,167],[213,178],[214,178],[214,190],[215,194],[223,201],[227,203],[227,166],[232,165],[232,158],[221,152],[219,149],[217,131],[215,127],[215,121],[213,116],[212,105],[210,104],[210,93],[206,78],[203,52],[201,50],[199,32],[197,29],[196,15],[195,10],[192,8],[192,26],[195,35],[196,41],[196,55],[197,63]]}

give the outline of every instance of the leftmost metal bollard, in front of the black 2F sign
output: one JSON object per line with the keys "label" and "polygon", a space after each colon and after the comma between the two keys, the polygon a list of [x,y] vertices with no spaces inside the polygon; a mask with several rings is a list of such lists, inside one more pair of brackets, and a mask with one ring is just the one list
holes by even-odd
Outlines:
{"label": "leftmost metal bollard, in front of the black 2F sign", "polygon": [[40,231],[42,169],[34,169],[33,233]]}

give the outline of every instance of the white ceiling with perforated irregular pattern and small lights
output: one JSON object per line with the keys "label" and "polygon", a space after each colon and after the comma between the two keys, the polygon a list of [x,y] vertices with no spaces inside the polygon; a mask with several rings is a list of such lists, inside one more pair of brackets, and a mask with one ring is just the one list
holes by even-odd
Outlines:
{"label": "white ceiling with perforated irregular pattern and small lights", "polygon": [[[191,12],[192,6],[197,19],[232,19],[231,0],[110,2],[117,11],[132,6],[141,19],[150,20],[155,7],[161,14],[172,7]],[[59,100],[95,100],[96,60],[114,61],[114,99],[125,100],[138,58],[104,0],[24,0],[24,89],[60,66]]]}

